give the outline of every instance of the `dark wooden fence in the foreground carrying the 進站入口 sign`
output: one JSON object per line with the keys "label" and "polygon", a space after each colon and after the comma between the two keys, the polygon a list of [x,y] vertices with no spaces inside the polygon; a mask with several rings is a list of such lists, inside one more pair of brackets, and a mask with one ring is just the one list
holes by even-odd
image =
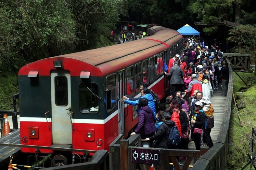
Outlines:
{"label": "dark wooden fence in the foreground carrying the \u9032\u7ad9\u5165\u53e3 sign", "polygon": [[[195,164],[200,158],[200,155],[208,151],[208,147],[201,147],[201,151],[151,148],[145,147],[150,145],[149,141],[141,140],[139,134],[134,134],[128,139],[122,139],[122,137],[123,136],[119,135],[115,141],[110,144],[110,170],[136,170],[136,166],[139,166],[142,170],[149,170],[153,163],[149,163],[150,159],[141,159],[141,152],[150,155],[154,152],[153,150],[159,152],[157,161],[161,163],[157,165],[158,170],[168,169],[170,160],[176,170],[186,170],[191,164]],[[138,152],[134,152],[135,150]],[[134,159],[132,160],[134,154],[137,156],[137,161],[140,159],[139,161],[142,162],[134,162]],[[187,157],[184,165],[179,164],[177,160],[179,156]]]}

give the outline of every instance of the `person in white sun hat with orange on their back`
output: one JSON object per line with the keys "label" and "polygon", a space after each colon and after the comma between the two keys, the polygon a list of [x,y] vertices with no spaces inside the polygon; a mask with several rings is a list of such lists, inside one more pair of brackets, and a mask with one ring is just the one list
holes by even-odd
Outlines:
{"label": "person in white sun hat with orange on their back", "polygon": [[209,146],[209,148],[213,147],[213,141],[210,136],[210,132],[212,131],[212,128],[214,127],[214,118],[213,118],[213,105],[211,104],[208,97],[203,97],[200,102],[203,103],[203,111],[206,116],[206,128],[205,128],[205,138],[206,138],[206,145]]}

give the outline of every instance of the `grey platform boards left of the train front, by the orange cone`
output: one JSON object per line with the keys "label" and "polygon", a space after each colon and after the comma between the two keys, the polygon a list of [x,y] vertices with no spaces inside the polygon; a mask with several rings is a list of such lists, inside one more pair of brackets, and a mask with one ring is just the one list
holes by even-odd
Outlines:
{"label": "grey platform boards left of the train front, by the orange cone", "polygon": [[[20,144],[20,129],[1,137],[0,143]],[[0,146],[0,169],[9,164],[11,155],[15,158],[18,153],[20,153],[20,147]],[[8,169],[8,166],[5,169]]]}

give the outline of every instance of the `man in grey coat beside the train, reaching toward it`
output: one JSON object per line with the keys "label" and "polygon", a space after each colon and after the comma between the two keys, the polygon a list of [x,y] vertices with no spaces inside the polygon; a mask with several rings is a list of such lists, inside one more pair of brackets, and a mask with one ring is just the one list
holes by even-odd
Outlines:
{"label": "man in grey coat beside the train, reaching toward it", "polygon": [[174,62],[174,66],[171,67],[170,72],[164,72],[166,75],[170,76],[170,93],[173,98],[176,96],[177,91],[182,91],[182,85],[185,84],[183,82],[184,72],[182,69],[178,66],[178,62]]}

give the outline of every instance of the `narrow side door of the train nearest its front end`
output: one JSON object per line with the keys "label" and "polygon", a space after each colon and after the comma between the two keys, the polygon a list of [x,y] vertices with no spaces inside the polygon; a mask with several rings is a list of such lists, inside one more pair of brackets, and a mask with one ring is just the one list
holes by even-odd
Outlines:
{"label": "narrow side door of the train nearest its front end", "polygon": [[125,132],[125,115],[124,115],[124,102],[122,97],[124,95],[124,71],[118,73],[117,76],[117,103],[118,103],[118,133],[123,134]]}

